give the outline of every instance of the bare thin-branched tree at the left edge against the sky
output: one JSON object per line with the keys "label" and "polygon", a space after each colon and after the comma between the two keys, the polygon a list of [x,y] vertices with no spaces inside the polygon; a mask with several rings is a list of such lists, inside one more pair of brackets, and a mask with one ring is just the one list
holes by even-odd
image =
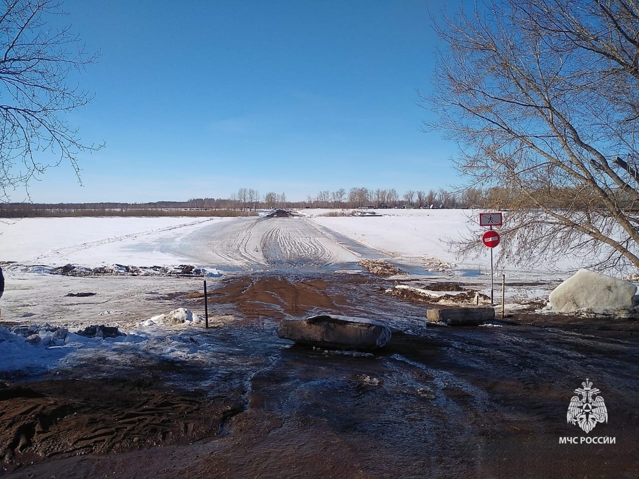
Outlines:
{"label": "bare thin-branched tree at the left edge against the sky", "polygon": [[[57,0],[3,0],[0,12],[0,201],[50,167],[68,161],[79,179],[77,155],[104,144],[84,144],[68,113],[93,96],[66,84],[96,55],[86,54],[68,28],[47,26],[63,13]],[[54,158],[47,160],[49,153]]]}

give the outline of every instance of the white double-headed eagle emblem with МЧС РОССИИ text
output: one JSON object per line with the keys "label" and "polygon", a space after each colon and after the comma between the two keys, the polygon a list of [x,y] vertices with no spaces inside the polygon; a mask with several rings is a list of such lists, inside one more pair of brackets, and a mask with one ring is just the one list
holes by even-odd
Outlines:
{"label": "white double-headed eagle emblem with \u041c\u0427\u0421 \u0420\u041e\u0421\u0421\u0418\u0418 text", "polygon": [[[592,387],[588,378],[577,388],[570,400],[566,418],[569,424],[579,426],[589,434],[597,423],[608,422],[608,409],[600,395],[601,391]],[[560,437],[559,444],[615,444],[615,437]]]}

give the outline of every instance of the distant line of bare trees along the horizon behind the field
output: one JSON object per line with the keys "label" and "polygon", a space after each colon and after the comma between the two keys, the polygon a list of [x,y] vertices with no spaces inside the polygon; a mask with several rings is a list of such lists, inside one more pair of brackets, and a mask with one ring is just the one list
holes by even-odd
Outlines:
{"label": "distant line of bare trees along the horizon behind the field", "polygon": [[[35,217],[236,217],[255,216],[256,209],[271,208],[495,208],[510,209],[543,197],[549,208],[586,209],[597,205],[596,199],[583,194],[583,188],[551,188],[521,194],[516,188],[465,188],[459,191],[408,190],[399,195],[394,188],[369,190],[343,188],[317,195],[305,201],[288,201],[285,193],[240,188],[230,198],[194,198],[188,201],[156,201],[148,203],[0,203],[0,218]],[[634,208],[619,190],[617,202],[623,208]],[[532,205],[532,203],[531,203]]]}

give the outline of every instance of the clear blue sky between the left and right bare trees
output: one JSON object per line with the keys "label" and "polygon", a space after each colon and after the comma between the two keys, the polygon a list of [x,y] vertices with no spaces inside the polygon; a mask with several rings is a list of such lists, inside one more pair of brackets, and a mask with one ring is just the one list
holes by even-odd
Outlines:
{"label": "clear blue sky between the left and right bare trees", "polygon": [[68,117],[85,142],[31,185],[36,202],[302,200],[353,186],[459,183],[456,146],[420,131],[436,37],[425,1],[65,0],[98,63]]}

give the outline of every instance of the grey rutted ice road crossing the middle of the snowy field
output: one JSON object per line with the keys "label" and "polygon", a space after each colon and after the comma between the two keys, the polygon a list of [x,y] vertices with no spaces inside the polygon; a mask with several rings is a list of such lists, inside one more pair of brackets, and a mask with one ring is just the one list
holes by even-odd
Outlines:
{"label": "grey rutted ice road crossing the middle of the snowy field", "polygon": [[304,218],[238,218],[206,225],[162,252],[212,266],[321,268],[357,262],[351,252]]}

